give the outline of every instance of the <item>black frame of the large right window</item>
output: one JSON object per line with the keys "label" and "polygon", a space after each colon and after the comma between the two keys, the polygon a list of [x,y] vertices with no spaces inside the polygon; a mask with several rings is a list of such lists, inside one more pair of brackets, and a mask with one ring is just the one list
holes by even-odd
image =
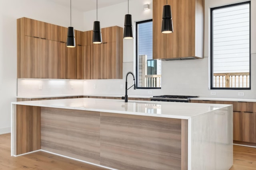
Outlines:
{"label": "black frame of the large right window", "polygon": [[[227,8],[232,6],[238,6],[243,4],[249,4],[249,87],[248,88],[226,88],[226,87],[213,87],[213,11],[216,9]],[[219,6],[215,8],[210,8],[210,90],[212,89],[223,89],[223,90],[251,90],[251,1],[230,4],[225,6]]]}

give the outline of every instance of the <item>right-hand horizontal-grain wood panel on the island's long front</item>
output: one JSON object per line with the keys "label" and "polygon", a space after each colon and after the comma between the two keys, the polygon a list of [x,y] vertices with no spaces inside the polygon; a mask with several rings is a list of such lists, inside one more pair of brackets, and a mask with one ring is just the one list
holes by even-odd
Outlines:
{"label": "right-hand horizontal-grain wood panel on the island's long front", "polygon": [[181,170],[181,133],[181,119],[101,113],[100,164],[120,170]]}

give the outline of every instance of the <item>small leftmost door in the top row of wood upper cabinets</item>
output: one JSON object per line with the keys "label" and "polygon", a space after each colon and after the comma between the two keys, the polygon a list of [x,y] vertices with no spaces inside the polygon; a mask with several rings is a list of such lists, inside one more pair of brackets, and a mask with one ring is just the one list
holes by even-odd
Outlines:
{"label": "small leftmost door in the top row of wood upper cabinets", "polygon": [[30,37],[40,37],[40,21],[24,18],[25,35]]}

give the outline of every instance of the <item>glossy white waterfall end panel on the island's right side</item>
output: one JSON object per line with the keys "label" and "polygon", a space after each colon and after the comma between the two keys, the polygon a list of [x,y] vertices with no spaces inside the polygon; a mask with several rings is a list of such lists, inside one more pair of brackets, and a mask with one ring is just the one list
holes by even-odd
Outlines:
{"label": "glossy white waterfall end panel on the island's right side", "polygon": [[233,107],[218,109],[216,106],[216,110],[192,117],[191,124],[191,169],[230,169],[233,165]]}

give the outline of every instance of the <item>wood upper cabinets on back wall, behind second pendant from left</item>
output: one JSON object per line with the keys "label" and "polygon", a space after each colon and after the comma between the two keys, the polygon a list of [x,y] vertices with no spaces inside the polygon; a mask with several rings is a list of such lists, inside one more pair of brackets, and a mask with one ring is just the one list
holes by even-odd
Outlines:
{"label": "wood upper cabinets on back wall, behind second pendant from left", "polygon": [[[122,79],[123,28],[114,26],[102,29],[102,44],[90,46],[90,78]],[[91,31],[92,42],[92,31]]]}

